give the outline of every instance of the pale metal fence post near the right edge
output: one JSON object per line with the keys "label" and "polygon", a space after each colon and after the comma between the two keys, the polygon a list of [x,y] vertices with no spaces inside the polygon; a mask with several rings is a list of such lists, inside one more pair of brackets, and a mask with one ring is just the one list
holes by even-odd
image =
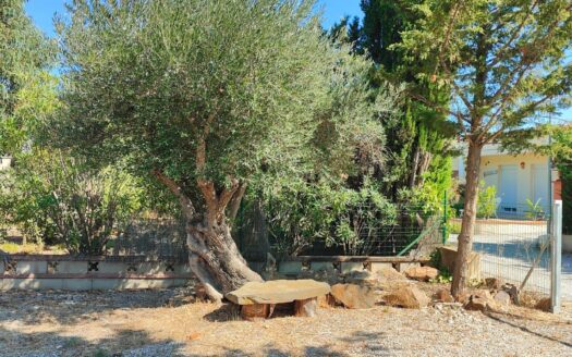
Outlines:
{"label": "pale metal fence post near the right edge", "polygon": [[561,273],[562,273],[562,201],[555,200],[552,209],[551,272],[550,272],[550,307],[553,313],[560,312],[561,306]]}

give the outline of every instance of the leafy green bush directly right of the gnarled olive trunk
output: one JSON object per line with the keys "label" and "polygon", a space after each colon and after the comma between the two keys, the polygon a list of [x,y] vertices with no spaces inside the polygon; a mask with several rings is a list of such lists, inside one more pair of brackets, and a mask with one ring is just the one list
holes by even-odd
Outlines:
{"label": "leafy green bush directly right of the gnarled olive trunk", "polygon": [[296,255],[317,239],[346,255],[366,255],[375,226],[397,219],[395,207],[367,182],[358,190],[326,182],[289,183],[265,195],[265,214],[278,256]]}

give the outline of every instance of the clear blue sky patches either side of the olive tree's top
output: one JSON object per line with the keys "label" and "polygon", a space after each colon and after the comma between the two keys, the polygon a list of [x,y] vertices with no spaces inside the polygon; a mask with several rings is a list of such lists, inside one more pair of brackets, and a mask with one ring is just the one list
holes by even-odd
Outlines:
{"label": "clear blue sky patches either side of the olive tree's top", "polygon": [[[28,0],[26,11],[36,23],[49,36],[53,36],[53,14],[64,14],[65,0]],[[324,7],[324,26],[330,27],[344,15],[355,16],[362,13],[360,0],[318,0]]]}

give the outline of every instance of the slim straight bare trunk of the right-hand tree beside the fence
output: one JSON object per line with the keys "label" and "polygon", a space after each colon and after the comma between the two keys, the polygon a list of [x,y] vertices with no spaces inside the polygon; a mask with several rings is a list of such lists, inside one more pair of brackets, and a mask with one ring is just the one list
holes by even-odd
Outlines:
{"label": "slim straight bare trunk of the right-hand tree beside the fence", "polygon": [[453,282],[451,294],[458,298],[463,292],[468,271],[468,257],[473,250],[473,233],[475,231],[477,199],[478,199],[478,171],[480,167],[480,151],[483,145],[478,143],[468,144],[466,159],[466,185],[465,205],[463,211],[461,233],[458,237],[457,260],[454,263]]}

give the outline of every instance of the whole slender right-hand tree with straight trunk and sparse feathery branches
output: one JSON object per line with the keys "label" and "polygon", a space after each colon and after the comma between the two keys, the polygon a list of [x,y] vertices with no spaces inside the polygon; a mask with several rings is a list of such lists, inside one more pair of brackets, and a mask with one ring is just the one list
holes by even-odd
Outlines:
{"label": "whole slender right-hand tree with straight trunk and sparse feathery branches", "polygon": [[453,273],[455,297],[466,283],[476,218],[480,153],[487,143],[519,146],[538,118],[568,106],[572,87],[570,0],[425,0],[412,8],[415,28],[402,33],[411,59],[437,59],[419,78],[451,88],[448,112],[467,143],[466,192]]}

